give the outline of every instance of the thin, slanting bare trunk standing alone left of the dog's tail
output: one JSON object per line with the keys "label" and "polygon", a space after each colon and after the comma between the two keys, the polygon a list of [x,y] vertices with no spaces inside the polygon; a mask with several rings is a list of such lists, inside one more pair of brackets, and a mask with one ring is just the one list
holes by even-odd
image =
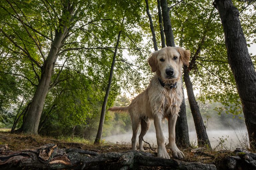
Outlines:
{"label": "thin, slanting bare trunk standing alone left of the dog's tail", "polygon": [[98,132],[97,132],[94,144],[100,143],[100,139],[101,139],[101,135],[102,135],[103,124],[104,124],[105,113],[106,113],[106,105],[107,105],[107,102],[108,102],[108,95],[109,95],[109,91],[110,91],[110,87],[111,87],[111,82],[112,82],[112,77],[113,77],[113,72],[114,72],[114,66],[115,66],[115,61],[116,61],[116,53],[117,53],[117,48],[118,48],[121,32],[122,31],[119,31],[119,34],[118,34],[118,37],[117,37],[115,53],[114,53],[114,56],[113,56],[113,60],[112,60],[111,68],[110,68],[110,73],[109,73],[109,78],[108,78],[108,86],[107,86],[107,89],[106,89],[106,94],[105,94],[104,101],[103,101],[102,108],[101,108],[99,128],[98,128]]}

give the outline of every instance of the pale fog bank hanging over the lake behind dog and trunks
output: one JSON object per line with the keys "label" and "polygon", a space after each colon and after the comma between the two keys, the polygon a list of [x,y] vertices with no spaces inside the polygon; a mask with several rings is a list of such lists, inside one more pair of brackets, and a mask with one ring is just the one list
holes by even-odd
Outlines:
{"label": "pale fog bank hanging over the lake behind dog and trunks", "polygon": [[[245,126],[243,115],[234,116],[232,114],[221,114],[217,113],[212,114],[211,118],[208,118],[207,115],[202,114],[205,125],[207,125],[206,131],[211,142],[212,148],[216,149],[229,149],[233,150],[236,147],[246,148],[248,146],[248,134]],[[240,117],[240,118],[239,118]],[[197,137],[193,118],[191,113],[187,114],[188,128],[189,128],[189,140],[193,146],[197,146]],[[118,127],[116,127],[118,128]],[[165,136],[166,143],[168,143],[168,124],[167,121],[162,123],[163,134]],[[137,135],[137,145],[138,145],[138,136],[140,129]],[[113,133],[112,133],[113,134]],[[132,129],[126,133],[114,134],[110,136],[103,137],[105,141],[113,143],[131,143],[132,138]],[[150,129],[147,134],[144,136],[144,140],[149,142],[151,146],[157,147],[156,134],[153,122],[151,123]],[[146,143],[144,143],[147,146]]]}

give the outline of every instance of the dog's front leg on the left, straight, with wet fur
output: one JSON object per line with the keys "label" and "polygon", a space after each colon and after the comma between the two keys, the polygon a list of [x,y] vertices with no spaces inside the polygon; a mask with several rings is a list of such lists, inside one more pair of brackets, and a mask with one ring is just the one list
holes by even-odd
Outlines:
{"label": "dog's front leg on the left, straight, with wet fur", "polygon": [[164,144],[164,135],[162,132],[161,120],[162,119],[159,115],[154,116],[154,125],[156,128],[156,140],[158,146],[157,156],[161,158],[170,159],[170,156],[168,155]]}

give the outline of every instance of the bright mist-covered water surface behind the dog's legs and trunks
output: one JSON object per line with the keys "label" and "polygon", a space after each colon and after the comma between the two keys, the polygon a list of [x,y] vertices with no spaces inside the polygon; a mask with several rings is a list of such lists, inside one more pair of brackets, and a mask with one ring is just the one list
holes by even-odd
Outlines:
{"label": "bright mist-covered water surface behind the dog's legs and trunks", "polygon": [[[189,121],[190,122],[190,121]],[[236,121],[234,120],[234,123]],[[214,121],[211,121],[211,124],[214,124]],[[248,134],[245,124],[237,125],[234,127],[224,128],[218,124],[211,125],[207,128],[207,134],[211,143],[212,148],[217,149],[229,149],[234,150],[237,147],[245,148],[246,144],[249,145]],[[189,140],[190,144],[197,146],[197,137],[196,131],[193,124],[188,124],[189,126]],[[165,141],[168,143],[168,124],[162,124],[163,134],[165,136]],[[138,136],[140,134],[140,128],[137,134],[137,146],[138,146]],[[113,143],[131,143],[132,138],[132,130],[123,133],[123,134],[115,134],[111,136],[103,137],[105,141],[113,142]],[[157,148],[156,141],[156,133],[154,129],[153,123],[151,123],[149,131],[143,137],[143,139],[151,144],[154,148]],[[144,146],[148,146],[148,144],[143,143]]]}

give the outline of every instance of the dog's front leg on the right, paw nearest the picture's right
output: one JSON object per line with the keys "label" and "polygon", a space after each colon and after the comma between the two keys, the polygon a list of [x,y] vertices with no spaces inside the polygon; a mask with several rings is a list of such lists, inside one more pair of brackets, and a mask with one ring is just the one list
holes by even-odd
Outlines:
{"label": "dog's front leg on the right, paw nearest the picture's right", "polygon": [[170,144],[170,149],[172,151],[172,156],[176,159],[183,159],[185,156],[179,150],[175,142],[175,125],[176,125],[177,117],[178,117],[177,114],[174,114],[174,115],[170,114],[168,118],[169,144]]}

